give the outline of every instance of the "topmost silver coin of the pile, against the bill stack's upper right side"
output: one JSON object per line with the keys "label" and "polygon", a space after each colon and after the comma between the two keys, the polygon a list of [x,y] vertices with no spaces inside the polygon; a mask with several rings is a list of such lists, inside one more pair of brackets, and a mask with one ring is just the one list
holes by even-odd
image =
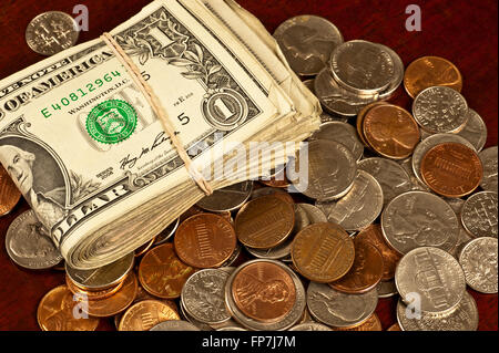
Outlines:
{"label": "topmost silver coin of the pile, against the bill stack's upper right side", "polygon": [[298,75],[316,75],[329,61],[332,51],[343,43],[339,30],[317,15],[286,20],[274,32],[292,70]]}

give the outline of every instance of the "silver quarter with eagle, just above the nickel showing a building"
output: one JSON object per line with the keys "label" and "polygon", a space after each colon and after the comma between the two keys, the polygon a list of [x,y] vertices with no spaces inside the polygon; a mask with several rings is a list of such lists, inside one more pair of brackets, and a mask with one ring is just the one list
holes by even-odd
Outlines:
{"label": "silver quarter with eagle, just above the nickel showing a building", "polygon": [[440,197],[409,191],[394,198],[385,208],[381,230],[387,243],[403,255],[419,247],[450,251],[457,243],[459,221]]}

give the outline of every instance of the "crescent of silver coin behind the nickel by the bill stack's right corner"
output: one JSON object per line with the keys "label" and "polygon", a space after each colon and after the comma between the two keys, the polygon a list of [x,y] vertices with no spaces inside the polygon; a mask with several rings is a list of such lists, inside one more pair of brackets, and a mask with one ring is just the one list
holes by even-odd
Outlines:
{"label": "crescent of silver coin behind the nickel by the bill stack's right corner", "polygon": [[359,160],[364,154],[364,144],[357,136],[354,126],[342,122],[330,122],[320,125],[320,129],[315,132],[308,141],[330,139],[344,144],[356,160]]}

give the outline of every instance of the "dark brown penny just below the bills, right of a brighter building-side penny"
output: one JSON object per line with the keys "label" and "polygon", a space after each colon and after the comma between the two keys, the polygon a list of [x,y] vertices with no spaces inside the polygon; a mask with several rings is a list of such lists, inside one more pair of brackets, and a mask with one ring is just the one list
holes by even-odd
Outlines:
{"label": "dark brown penny just below the bills, right of a brighter building-side penny", "polygon": [[236,242],[231,222],[212,214],[200,214],[184,220],[173,240],[179,258],[200,269],[222,266],[234,252]]}

